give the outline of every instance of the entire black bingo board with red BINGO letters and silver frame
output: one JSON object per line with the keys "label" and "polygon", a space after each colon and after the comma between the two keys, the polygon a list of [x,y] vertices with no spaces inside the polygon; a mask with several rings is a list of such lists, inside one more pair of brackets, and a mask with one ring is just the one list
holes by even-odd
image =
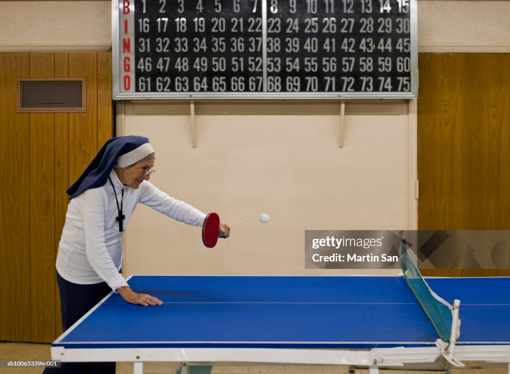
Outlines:
{"label": "entire black bingo board with red BINGO letters and silver frame", "polygon": [[115,98],[416,97],[416,0],[114,3]]}

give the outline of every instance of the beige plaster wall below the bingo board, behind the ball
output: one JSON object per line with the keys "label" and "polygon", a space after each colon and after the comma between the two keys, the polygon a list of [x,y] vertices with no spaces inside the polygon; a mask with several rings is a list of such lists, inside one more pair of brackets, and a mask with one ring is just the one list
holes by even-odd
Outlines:
{"label": "beige plaster wall below the bingo board, behind the ball", "polygon": [[[232,236],[208,249],[199,228],[139,206],[124,235],[126,273],[353,273],[305,270],[304,230],[409,227],[406,113],[348,115],[340,148],[339,115],[328,114],[338,104],[195,106],[196,148],[185,105],[126,104],[124,133],[149,137],[152,183],[216,211]],[[261,213],[270,221],[261,223]]]}

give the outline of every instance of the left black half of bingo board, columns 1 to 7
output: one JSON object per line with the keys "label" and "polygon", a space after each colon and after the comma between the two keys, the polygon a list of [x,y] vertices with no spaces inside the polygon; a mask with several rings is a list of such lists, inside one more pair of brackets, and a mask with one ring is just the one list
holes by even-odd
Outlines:
{"label": "left black half of bingo board, columns 1 to 7", "polygon": [[262,6],[255,3],[136,0],[137,92],[262,91]]}

